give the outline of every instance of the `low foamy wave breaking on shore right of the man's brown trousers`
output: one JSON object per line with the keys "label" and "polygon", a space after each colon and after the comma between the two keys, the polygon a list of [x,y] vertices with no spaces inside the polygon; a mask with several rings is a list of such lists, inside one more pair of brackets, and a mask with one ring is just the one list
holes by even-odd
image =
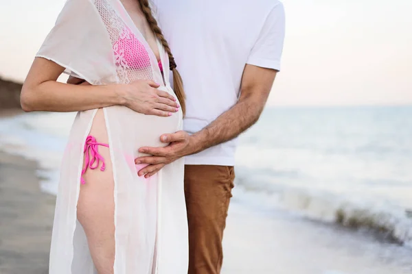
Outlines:
{"label": "low foamy wave breaking on shore right of the man's brown trousers", "polygon": [[[258,184],[250,188],[236,180],[233,199],[271,214],[279,210],[301,218],[373,232],[391,242],[412,248],[412,210],[388,200],[335,194],[319,189]],[[243,181],[243,182],[242,182]],[[268,189],[265,189],[265,186]]]}

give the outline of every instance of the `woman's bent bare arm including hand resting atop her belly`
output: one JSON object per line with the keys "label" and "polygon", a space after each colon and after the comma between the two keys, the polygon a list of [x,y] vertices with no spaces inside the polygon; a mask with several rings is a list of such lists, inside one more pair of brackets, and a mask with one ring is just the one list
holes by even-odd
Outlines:
{"label": "woman's bent bare arm including hand resting atop her belly", "polygon": [[170,116],[179,105],[158,84],[139,80],[132,84],[106,86],[71,85],[56,82],[65,69],[55,62],[35,58],[21,91],[26,112],[73,112],[124,105],[143,114]]}

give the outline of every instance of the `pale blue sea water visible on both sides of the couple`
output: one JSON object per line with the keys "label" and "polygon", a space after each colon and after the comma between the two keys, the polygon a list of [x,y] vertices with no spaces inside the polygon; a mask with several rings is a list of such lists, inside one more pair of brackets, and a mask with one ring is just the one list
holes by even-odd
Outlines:
{"label": "pale blue sea water visible on both sides of the couple", "polygon": [[[0,149],[37,160],[43,190],[56,193],[74,117],[34,113],[2,119]],[[407,106],[266,108],[240,136],[233,201],[364,229],[409,249],[411,117]]]}

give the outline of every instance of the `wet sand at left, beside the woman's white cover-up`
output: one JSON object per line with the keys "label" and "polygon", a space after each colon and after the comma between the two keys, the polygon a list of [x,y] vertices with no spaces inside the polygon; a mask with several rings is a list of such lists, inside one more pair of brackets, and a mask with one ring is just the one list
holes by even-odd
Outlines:
{"label": "wet sand at left, beside the woman's white cover-up", "polygon": [[47,274],[55,197],[36,162],[0,151],[0,273]]}

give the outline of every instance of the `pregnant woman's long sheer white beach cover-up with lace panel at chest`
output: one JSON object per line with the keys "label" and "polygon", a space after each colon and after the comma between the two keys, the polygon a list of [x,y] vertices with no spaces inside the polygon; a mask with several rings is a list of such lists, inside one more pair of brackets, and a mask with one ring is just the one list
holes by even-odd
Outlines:
{"label": "pregnant woman's long sheer white beach cover-up with lace panel at chest", "polygon": [[[122,41],[126,41],[122,44]],[[138,45],[136,45],[136,43]],[[163,68],[168,55],[157,42]],[[148,56],[130,64],[130,54]],[[68,0],[37,57],[93,85],[152,79],[165,84],[155,54],[119,0]],[[140,62],[138,59],[136,62]],[[174,95],[175,96],[175,95]],[[181,111],[148,116],[122,107],[104,108],[115,190],[115,274],[187,273],[187,216],[183,159],[150,179],[139,177],[139,147],[161,147],[159,137],[182,129]],[[50,251],[50,274],[96,274],[82,225],[77,221],[83,146],[98,110],[79,112],[63,156]]]}

